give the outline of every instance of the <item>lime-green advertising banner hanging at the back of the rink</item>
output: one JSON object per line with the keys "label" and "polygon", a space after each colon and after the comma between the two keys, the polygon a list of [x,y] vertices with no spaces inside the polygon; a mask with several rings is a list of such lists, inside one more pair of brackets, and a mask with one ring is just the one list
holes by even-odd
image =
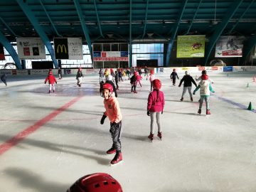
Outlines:
{"label": "lime-green advertising banner hanging at the back of the rink", "polygon": [[177,58],[203,58],[206,36],[178,36]]}

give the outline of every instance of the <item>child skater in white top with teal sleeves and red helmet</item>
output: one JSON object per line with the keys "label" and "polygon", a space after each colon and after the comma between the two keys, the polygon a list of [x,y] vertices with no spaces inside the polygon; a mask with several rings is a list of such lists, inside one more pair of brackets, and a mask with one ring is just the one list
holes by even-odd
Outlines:
{"label": "child skater in white top with teal sleeves and red helmet", "polygon": [[198,114],[201,114],[202,112],[203,100],[206,101],[206,114],[210,114],[210,92],[215,91],[208,80],[208,75],[202,75],[201,79],[202,80],[199,82],[198,87],[196,87],[196,90],[193,91],[193,95],[195,95],[196,91],[200,88],[200,104]]}

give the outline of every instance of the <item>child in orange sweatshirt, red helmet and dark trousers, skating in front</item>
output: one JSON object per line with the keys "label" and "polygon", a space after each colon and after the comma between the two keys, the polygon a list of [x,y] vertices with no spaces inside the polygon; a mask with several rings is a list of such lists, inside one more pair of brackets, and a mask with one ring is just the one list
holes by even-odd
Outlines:
{"label": "child in orange sweatshirt, red helmet and dark trousers, skating in front", "polygon": [[105,112],[102,115],[100,124],[104,124],[106,117],[110,119],[110,134],[112,137],[112,146],[107,150],[107,154],[115,154],[110,164],[117,164],[122,161],[121,152],[121,132],[122,132],[122,114],[119,108],[117,98],[112,95],[113,87],[109,83],[102,86],[102,97],[104,97]]}

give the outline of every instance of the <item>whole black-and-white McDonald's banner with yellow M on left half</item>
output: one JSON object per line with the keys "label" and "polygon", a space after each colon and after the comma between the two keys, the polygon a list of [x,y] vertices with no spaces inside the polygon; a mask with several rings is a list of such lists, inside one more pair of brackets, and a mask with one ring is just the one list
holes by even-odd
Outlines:
{"label": "whole black-and-white McDonald's banner with yellow M on left half", "polygon": [[55,59],[82,60],[82,38],[54,38]]}

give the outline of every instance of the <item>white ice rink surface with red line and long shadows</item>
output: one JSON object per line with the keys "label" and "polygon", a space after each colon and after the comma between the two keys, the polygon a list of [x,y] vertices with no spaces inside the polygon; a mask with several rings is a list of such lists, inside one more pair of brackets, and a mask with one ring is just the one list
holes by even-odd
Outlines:
{"label": "white ice rink surface with red line and long shadows", "polygon": [[215,93],[206,116],[205,105],[197,114],[199,91],[193,102],[188,92],[181,102],[179,80],[174,87],[169,75],[156,74],[166,105],[163,140],[152,143],[149,81],[142,80],[137,94],[130,93],[129,80],[120,82],[124,161],[114,166],[114,155],[105,154],[112,139],[109,120],[100,124],[105,108],[98,76],[85,75],[82,87],[75,76],[64,76],[50,95],[45,76],[9,76],[7,87],[0,84],[0,191],[64,192],[81,176],[103,172],[124,192],[255,192],[256,110],[247,107],[256,105],[256,75],[209,76]]}

